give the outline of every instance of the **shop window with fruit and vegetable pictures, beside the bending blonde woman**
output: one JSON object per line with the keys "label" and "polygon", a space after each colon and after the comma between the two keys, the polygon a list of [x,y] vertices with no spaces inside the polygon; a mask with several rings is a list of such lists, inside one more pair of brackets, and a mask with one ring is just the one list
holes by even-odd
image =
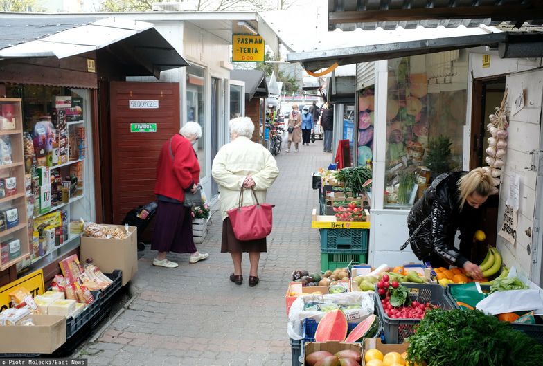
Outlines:
{"label": "shop window with fruit and vegetable pictures, beside the bending blonde woman", "polygon": [[438,174],[460,170],[467,53],[389,60],[384,208],[407,208]]}

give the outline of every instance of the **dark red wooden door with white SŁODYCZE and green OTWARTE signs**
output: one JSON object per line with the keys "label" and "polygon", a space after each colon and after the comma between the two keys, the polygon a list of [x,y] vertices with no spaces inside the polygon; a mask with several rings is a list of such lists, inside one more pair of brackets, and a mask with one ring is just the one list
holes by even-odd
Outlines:
{"label": "dark red wooden door with white S\u0141ODYCZE and green OTWARTE signs", "polygon": [[156,201],[159,152],[181,125],[179,84],[111,82],[110,110],[112,218],[121,223],[132,208]]}

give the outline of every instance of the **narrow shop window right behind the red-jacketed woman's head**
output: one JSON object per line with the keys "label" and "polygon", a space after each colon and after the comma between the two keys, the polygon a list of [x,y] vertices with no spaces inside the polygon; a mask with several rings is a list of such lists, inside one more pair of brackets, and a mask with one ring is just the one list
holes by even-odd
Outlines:
{"label": "narrow shop window right behind the red-jacketed woman's head", "polygon": [[198,163],[202,175],[206,172],[206,71],[197,66],[187,66],[187,122],[198,122],[202,127],[202,138],[195,145],[197,147]]}

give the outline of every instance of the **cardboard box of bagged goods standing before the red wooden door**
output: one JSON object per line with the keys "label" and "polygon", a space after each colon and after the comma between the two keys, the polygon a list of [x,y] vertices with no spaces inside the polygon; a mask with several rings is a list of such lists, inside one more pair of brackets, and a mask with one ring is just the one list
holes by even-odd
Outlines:
{"label": "cardboard box of bagged goods standing before the red wooden door", "polygon": [[[122,225],[116,226],[125,230]],[[80,259],[84,263],[87,258],[104,273],[112,273],[116,269],[123,271],[123,286],[138,271],[138,234],[134,226],[128,228],[130,235],[126,239],[98,239],[81,237]]]}

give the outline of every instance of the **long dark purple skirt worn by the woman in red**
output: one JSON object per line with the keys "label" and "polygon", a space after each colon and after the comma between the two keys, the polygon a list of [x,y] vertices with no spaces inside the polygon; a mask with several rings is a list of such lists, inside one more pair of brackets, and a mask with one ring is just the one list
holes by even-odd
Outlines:
{"label": "long dark purple skirt worn by the woman in red", "polygon": [[175,253],[197,251],[193,239],[193,219],[190,216],[190,208],[180,203],[159,201],[151,249]]}

